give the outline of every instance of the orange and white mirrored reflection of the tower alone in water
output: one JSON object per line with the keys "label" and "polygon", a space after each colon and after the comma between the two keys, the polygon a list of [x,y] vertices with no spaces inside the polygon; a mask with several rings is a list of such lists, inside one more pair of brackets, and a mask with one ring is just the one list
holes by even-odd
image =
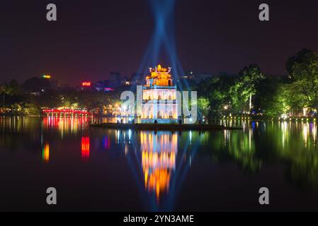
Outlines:
{"label": "orange and white mirrored reflection of the tower alone in water", "polygon": [[178,136],[167,132],[140,132],[144,186],[155,192],[157,200],[169,191],[171,174],[176,169]]}

